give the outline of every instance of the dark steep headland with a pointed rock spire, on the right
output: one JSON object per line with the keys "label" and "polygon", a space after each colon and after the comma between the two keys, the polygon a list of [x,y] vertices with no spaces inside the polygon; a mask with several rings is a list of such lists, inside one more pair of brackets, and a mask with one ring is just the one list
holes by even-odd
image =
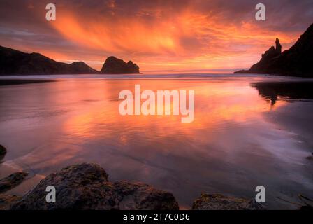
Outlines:
{"label": "dark steep headland with a pointed rock spire, on the right", "polygon": [[249,70],[235,73],[267,73],[284,76],[313,77],[313,24],[298,41],[281,53],[282,46],[276,40],[276,48],[270,48],[261,60]]}

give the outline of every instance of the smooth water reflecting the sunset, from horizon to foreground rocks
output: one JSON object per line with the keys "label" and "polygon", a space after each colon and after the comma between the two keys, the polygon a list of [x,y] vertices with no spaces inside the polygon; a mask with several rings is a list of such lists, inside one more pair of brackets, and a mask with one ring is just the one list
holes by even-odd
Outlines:
{"label": "smooth water reflecting the sunset, from horizon to foreground rocks", "polygon": [[[24,169],[23,194],[66,165],[95,162],[110,181],[152,184],[189,209],[201,193],[253,198],[295,209],[313,197],[312,80],[255,75],[15,76],[54,80],[0,86],[0,177]],[[259,85],[263,83],[263,85]],[[267,83],[282,83],[268,85]],[[121,116],[122,90],[194,90],[194,122]],[[290,87],[291,86],[291,87]],[[304,87],[303,87],[304,86]],[[269,88],[268,88],[269,87]],[[290,90],[290,91],[289,91]],[[22,184],[23,185],[23,184]]]}

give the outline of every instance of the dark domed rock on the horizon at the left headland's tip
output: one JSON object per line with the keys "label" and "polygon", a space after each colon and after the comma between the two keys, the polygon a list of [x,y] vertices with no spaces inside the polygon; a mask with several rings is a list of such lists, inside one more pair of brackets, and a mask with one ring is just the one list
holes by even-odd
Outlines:
{"label": "dark domed rock on the horizon at the left headland's tip", "polygon": [[101,73],[105,74],[126,74],[139,73],[139,66],[133,62],[124,62],[122,59],[116,57],[108,57],[101,69]]}

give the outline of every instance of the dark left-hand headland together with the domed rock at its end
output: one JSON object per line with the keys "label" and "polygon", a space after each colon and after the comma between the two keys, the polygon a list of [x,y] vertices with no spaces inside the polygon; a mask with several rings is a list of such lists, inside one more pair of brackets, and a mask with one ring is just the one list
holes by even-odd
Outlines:
{"label": "dark left-hand headland together with the domed rock at its end", "polygon": [[66,64],[57,62],[36,52],[25,53],[0,46],[0,76],[12,75],[57,75],[57,74],[122,74],[140,73],[139,66],[116,57],[108,57],[101,71],[96,71],[85,62]]}

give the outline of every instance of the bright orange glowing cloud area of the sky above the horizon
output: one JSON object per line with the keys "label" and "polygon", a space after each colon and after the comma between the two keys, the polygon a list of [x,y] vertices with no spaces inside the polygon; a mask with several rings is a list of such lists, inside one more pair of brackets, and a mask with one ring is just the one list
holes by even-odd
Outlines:
{"label": "bright orange glowing cloud area of the sky above the horizon", "polygon": [[297,36],[261,29],[252,22],[235,25],[221,15],[188,8],[168,16],[154,12],[153,20],[142,15],[146,14],[85,18],[62,11],[53,27],[73,43],[102,50],[97,61],[114,54],[134,60],[143,71],[244,67],[256,62],[277,36],[282,43],[292,43]]}

